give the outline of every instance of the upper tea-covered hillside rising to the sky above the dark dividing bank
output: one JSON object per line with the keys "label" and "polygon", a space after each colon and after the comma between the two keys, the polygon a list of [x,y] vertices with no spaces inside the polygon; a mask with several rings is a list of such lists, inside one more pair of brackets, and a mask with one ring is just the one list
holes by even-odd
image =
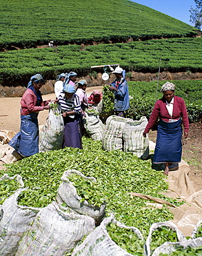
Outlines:
{"label": "upper tea-covered hillside rising to the sky above the dark dividing bank", "polygon": [[[0,0],[0,48],[192,37],[196,29],[128,0]],[[3,49],[2,49],[3,48]]]}

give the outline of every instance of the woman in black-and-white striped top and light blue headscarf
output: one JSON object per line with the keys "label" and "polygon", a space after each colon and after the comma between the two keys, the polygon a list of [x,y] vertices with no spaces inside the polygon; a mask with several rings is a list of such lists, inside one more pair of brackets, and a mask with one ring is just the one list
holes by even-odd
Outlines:
{"label": "woman in black-and-white striped top and light blue headscarf", "polygon": [[59,95],[59,104],[64,120],[64,144],[63,147],[75,147],[82,149],[81,143],[81,104],[79,96],[75,94],[72,84],[65,84],[63,93]]}

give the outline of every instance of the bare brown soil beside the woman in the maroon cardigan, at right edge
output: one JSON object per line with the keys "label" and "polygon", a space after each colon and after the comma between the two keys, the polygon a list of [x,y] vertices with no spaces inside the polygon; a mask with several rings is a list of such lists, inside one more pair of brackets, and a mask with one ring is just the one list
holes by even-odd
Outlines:
{"label": "bare brown soil beside the woman in the maroon cardigan, at right edge", "polygon": [[[157,131],[151,131],[149,139],[156,143]],[[190,124],[189,136],[183,139],[182,158],[190,166],[189,178],[196,190],[202,189],[202,125]]]}

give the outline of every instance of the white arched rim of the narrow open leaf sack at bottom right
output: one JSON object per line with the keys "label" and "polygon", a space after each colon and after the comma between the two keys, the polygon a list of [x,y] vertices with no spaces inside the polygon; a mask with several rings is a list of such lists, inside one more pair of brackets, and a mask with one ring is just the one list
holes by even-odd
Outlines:
{"label": "white arched rim of the narrow open leaf sack at bottom right", "polygon": [[[152,233],[155,230],[157,230],[158,228],[161,228],[161,227],[171,228],[173,231],[175,231],[176,232],[176,237],[177,237],[178,241],[185,241],[186,240],[185,236],[183,235],[183,233],[171,221],[153,223],[152,226],[150,226],[150,232],[149,232],[148,238],[147,238],[147,240],[145,242],[144,249],[145,249],[145,255],[146,256],[150,256],[151,255],[150,243],[152,241]],[[156,251],[156,249],[154,250],[154,252]],[[169,252],[169,250],[168,250],[168,252]],[[152,255],[154,255],[154,253]]]}

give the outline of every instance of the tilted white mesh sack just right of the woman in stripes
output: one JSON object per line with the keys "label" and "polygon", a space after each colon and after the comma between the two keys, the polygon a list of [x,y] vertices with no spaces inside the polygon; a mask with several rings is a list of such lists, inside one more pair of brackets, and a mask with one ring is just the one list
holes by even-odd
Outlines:
{"label": "tilted white mesh sack just right of the woman in stripes", "polygon": [[83,117],[83,125],[87,134],[92,140],[102,140],[105,125],[99,119],[99,112],[97,108],[85,109],[85,116]]}

